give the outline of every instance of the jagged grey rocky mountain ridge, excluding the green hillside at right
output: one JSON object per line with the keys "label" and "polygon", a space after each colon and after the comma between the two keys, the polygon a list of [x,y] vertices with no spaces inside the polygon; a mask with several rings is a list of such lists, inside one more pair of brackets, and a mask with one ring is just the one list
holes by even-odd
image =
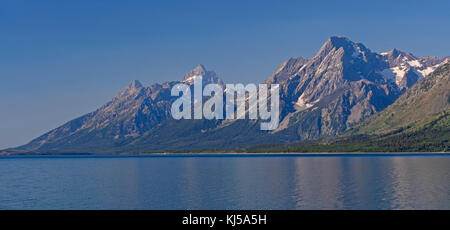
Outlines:
{"label": "jagged grey rocky mountain ridge, excluding the green hillside at right", "polygon": [[[420,69],[411,62],[417,60]],[[18,150],[136,152],[287,143],[336,136],[383,110],[414,85],[413,79],[402,86],[387,70],[407,64],[418,72],[437,68],[444,61],[447,59],[417,59],[397,50],[377,54],[345,37],[330,37],[315,56],[291,58],[264,81],[281,85],[282,122],[272,132],[260,131],[260,121],[252,120],[173,120],[170,106],[176,97],[170,96],[170,89],[175,84],[192,84],[193,78],[200,75],[204,84],[223,85],[213,71],[199,65],[180,81],[149,87],[134,81],[98,110]]]}

